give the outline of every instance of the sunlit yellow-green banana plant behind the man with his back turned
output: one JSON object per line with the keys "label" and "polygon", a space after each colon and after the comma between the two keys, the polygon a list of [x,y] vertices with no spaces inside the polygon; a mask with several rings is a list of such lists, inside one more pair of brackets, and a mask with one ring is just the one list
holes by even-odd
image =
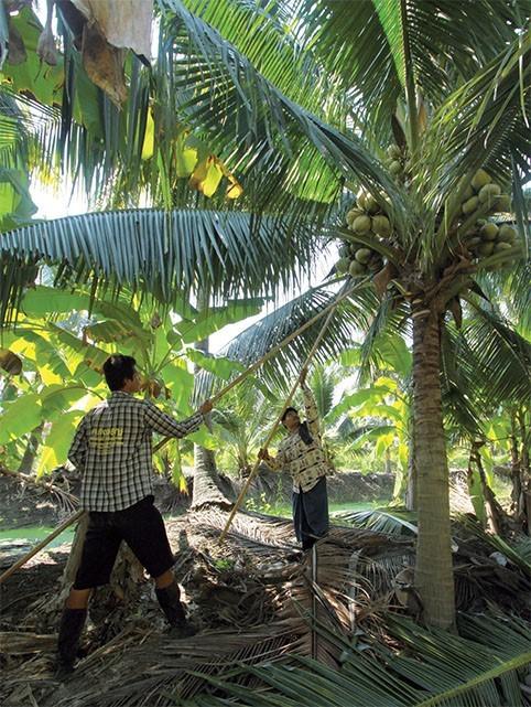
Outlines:
{"label": "sunlit yellow-green banana plant behind the man with his back turned", "polygon": [[[2,346],[22,364],[19,375],[10,377],[17,393],[2,400],[0,444],[6,447],[8,461],[20,454],[19,440],[44,422],[37,473],[65,462],[80,417],[108,393],[101,366],[117,350],[136,357],[147,396],[177,417],[189,415],[192,363],[221,379],[241,371],[237,362],[201,354],[193,343],[205,332],[257,313],[261,304],[260,299],[235,301],[210,310],[208,317],[183,306],[180,315],[171,310],[159,312],[152,302],[126,293],[118,301],[90,301],[88,292],[43,286],[29,290],[17,329],[3,333]],[[214,444],[204,429],[189,439]],[[178,459],[178,451],[173,452]],[[174,468],[174,476],[180,476],[180,468]]]}

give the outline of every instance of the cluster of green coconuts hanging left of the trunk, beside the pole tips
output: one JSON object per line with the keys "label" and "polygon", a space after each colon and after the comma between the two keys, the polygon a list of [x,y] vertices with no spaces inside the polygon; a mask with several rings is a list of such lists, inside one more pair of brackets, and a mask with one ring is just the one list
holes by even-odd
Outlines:
{"label": "cluster of green coconuts hanging left of the trunk, beside the pole tips", "polygon": [[[365,191],[358,193],[346,219],[349,231],[360,236],[389,238],[392,233],[391,223],[380,204],[372,194]],[[362,243],[344,242],[339,248],[339,256],[336,263],[337,272],[348,272],[351,277],[379,272],[384,265],[381,255]]]}

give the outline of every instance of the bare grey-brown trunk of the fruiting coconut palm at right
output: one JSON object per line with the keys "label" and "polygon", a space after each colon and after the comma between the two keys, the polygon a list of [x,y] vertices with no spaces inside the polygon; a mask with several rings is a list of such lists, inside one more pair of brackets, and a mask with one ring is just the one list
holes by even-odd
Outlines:
{"label": "bare grey-brown trunk of the fruiting coconut palm at right", "polygon": [[413,415],[419,503],[415,586],[424,620],[455,624],[448,465],[440,378],[441,320],[413,313]]}

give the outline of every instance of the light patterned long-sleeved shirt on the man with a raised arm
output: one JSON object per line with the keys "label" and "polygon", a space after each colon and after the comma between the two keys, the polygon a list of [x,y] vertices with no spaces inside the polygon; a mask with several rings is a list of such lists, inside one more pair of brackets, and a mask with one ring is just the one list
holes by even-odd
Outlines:
{"label": "light patterned long-sleeved shirt on the man with a raised arm", "polygon": [[302,386],[306,421],[312,435],[311,444],[303,442],[299,431],[291,432],[282,440],[274,461],[266,462],[274,470],[282,469],[293,478],[293,492],[311,491],[317,481],[326,475],[328,464],[321,440],[317,406],[312,390],[307,385]]}

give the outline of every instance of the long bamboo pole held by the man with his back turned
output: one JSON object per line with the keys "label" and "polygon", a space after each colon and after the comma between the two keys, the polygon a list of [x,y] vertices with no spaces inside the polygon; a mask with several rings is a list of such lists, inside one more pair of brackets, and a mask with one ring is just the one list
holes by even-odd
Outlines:
{"label": "long bamboo pole held by the man with his back turned", "polygon": [[[246,371],[243,371],[243,373],[240,373],[240,375],[239,375],[239,376],[237,376],[234,381],[231,381],[230,383],[228,383],[224,388],[221,388],[221,390],[219,390],[218,393],[216,393],[216,395],[214,395],[214,396],[213,396],[213,398],[212,398],[213,403],[217,403],[220,398],[223,398],[223,396],[224,396],[224,395],[226,395],[226,394],[227,394],[229,390],[231,390],[235,386],[237,386],[239,383],[241,383],[241,382],[242,382],[245,378],[247,378],[247,376],[249,376],[251,373],[253,373],[254,371],[257,371],[257,368],[259,368],[261,365],[263,365],[263,364],[266,363],[266,361],[268,361],[269,358],[271,358],[272,356],[274,356],[277,353],[279,353],[279,351],[281,351],[284,346],[286,346],[291,341],[293,341],[294,339],[296,339],[297,336],[300,336],[300,335],[301,335],[301,334],[302,334],[306,329],[308,329],[310,326],[312,326],[313,324],[315,324],[315,322],[317,322],[317,321],[318,321],[322,317],[324,317],[326,313],[330,314],[330,313],[335,310],[335,308],[337,307],[337,304],[339,304],[339,302],[340,302],[342,300],[344,300],[346,297],[348,297],[348,294],[350,294],[350,292],[351,292],[351,288],[349,288],[347,291],[345,291],[345,292],[343,292],[343,293],[340,292],[340,293],[337,296],[337,298],[336,298],[333,302],[330,302],[330,304],[328,304],[327,307],[325,307],[321,312],[317,312],[317,314],[315,314],[314,317],[312,317],[312,319],[310,319],[307,322],[305,322],[305,323],[304,323],[302,326],[300,326],[295,332],[293,332],[292,334],[290,334],[289,336],[286,336],[284,340],[282,340],[282,341],[280,342],[280,344],[277,344],[277,346],[273,346],[273,349],[271,349],[270,351],[268,351],[268,353],[267,353],[266,355],[263,355],[261,358],[259,358],[258,361],[256,361],[251,366],[249,366],[249,368],[247,368]],[[327,321],[328,321],[328,320],[327,320]],[[313,355],[313,354],[312,354],[312,355]],[[297,382],[297,383],[299,383],[299,382]],[[296,389],[296,386],[295,386],[295,389]],[[293,394],[294,394],[294,392],[293,392]],[[293,396],[293,394],[292,394],[292,396]],[[290,398],[290,400],[291,400],[291,398]],[[289,405],[289,403],[286,403],[286,405]],[[275,429],[277,429],[277,428],[275,428]],[[169,442],[171,439],[172,439],[171,437],[166,437],[166,438],[162,439],[158,444],[155,444],[155,447],[153,448],[153,451],[154,451],[154,452],[159,451],[159,449],[161,449],[162,447],[164,447],[164,444],[165,444],[166,442]],[[258,468],[258,464],[257,464],[257,468]],[[8,577],[10,577],[14,571],[17,571],[20,567],[22,567],[23,565],[25,565],[25,563],[28,563],[28,560],[30,560],[34,555],[36,555],[37,553],[40,553],[40,551],[43,549],[43,547],[46,547],[46,545],[48,545],[48,544],[50,544],[50,543],[51,543],[55,537],[57,537],[57,535],[58,535],[59,533],[62,533],[62,532],[63,532],[64,529],[66,529],[69,525],[72,525],[73,523],[75,523],[76,521],[78,521],[78,519],[82,517],[82,515],[83,515],[84,513],[85,513],[84,511],[78,511],[77,513],[75,513],[74,515],[72,515],[69,518],[66,518],[66,521],[65,521],[62,525],[59,525],[59,526],[58,526],[58,527],[57,527],[53,533],[51,533],[47,537],[45,537],[43,540],[41,540],[41,543],[39,543],[39,545],[35,545],[35,547],[34,547],[34,548],[32,548],[32,549],[31,549],[26,555],[24,555],[24,556],[23,556],[23,557],[21,557],[19,560],[17,560],[17,563],[14,563],[14,565],[12,565],[8,570],[6,570],[6,571],[3,572],[3,575],[0,575],[0,585],[1,585],[6,579],[8,579]],[[230,519],[231,519],[231,518],[230,518]]]}

